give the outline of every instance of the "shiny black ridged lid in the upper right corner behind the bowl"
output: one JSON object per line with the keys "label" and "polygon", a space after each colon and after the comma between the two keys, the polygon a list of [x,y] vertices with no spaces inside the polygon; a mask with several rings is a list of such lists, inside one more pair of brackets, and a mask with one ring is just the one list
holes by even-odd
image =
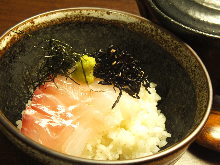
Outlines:
{"label": "shiny black ridged lid in the upper right corner behind the bowl", "polygon": [[146,3],[176,28],[220,38],[220,0],[146,0]]}

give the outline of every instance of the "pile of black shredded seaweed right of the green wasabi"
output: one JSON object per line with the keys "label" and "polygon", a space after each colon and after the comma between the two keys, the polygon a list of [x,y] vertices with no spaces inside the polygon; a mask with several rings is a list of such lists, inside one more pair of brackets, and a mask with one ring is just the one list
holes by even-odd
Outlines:
{"label": "pile of black shredded seaweed right of the green wasabi", "polygon": [[140,61],[127,51],[111,45],[107,51],[100,50],[93,54],[96,59],[94,76],[103,79],[102,85],[114,85],[120,90],[112,108],[118,103],[122,91],[139,99],[141,85],[148,91],[147,75],[141,67]]}

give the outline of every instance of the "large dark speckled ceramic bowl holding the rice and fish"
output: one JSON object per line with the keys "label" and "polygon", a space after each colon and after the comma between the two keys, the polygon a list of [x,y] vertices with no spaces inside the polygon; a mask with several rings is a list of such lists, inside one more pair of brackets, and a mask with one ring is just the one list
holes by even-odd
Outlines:
{"label": "large dark speckled ceramic bowl holding the rice and fish", "polygon": [[[26,35],[25,35],[26,34]],[[31,34],[32,37],[29,37]],[[15,126],[29,99],[27,86],[36,78],[36,38],[56,38],[76,52],[117,45],[139,58],[162,97],[172,137],[157,154],[134,160],[96,161],[68,156],[22,135]],[[108,9],[76,8],[51,11],[27,19],[0,38],[0,129],[19,148],[45,164],[174,164],[205,124],[212,103],[208,73],[184,42],[150,21]],[[23,73],[30,66],[30,82]]]}

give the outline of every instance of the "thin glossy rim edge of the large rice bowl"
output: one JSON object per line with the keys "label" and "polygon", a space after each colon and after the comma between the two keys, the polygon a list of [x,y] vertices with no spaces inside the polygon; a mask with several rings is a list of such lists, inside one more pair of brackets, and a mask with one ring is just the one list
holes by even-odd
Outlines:
{"label": "thin glossy rim edge of the large rice bowl", "polygon": [[134,20],[138,20],[138,21],[142,21],[148,24],[151,24],[153,26],[155,26],[156,28],[161,29],[162,31],[166,32],[166,34],[170,35],[173,39],[177,40],[178,42],[182,43],[183,45],[185,45],[190,51],[191,54],[194,55],[194,57],[196,58],[197,62],[200,64],[200,66],[203,69],[204,75],[206,76],[207,82],[208,82],[208,89],[209,89],[209,100],[207,101],[207,108],[206,108],[206,112],[202,118],[202,121],[198,124],[198,126],[196,126],[194,128],[194,130],[187,135],[186,137],[184,137],[181,141],[171,145],[170,147],[167,147],[164,150],[159,151],[158,153],[155,153],[153,155],[149,155],[149,156],[145,156],[145,157],[141,157],[141,158],[136,158],[136,159],[131,159],[131,160],[93,160],[93,159],[85,159],[85,158],[80,158],[80,157],[76,157],[76,156],[70,156],[67,154],[63,154],[61,152],[49,149],[33,140],[31,140],[30,138],[26,137],[25,135],[23,135],[17,128],[16,126],[14,126],[5,116],[4,114],[1,112],[0,110],[0,123],[3,125],[3,127],[5,129],[7,129],[7,131],[9,131],[12,135],[14,135],[19,141],[21,141],[24,144],[28,144],[31,146],[31,148],[33,148],[34,150],[40,151],[43,154],[49,155],[50,157],[55,157],[55,158],[59,158],[61,160],[64,161],[68,161],[68,162],[79,162],[79,163],[87,163],[87,164],[133,164],[133,163],[144,163],[146,161],[152,161],[158,158],[163,158],[167,155],[173,154],[174,152],[178,151],[178,149],[183,148],[187,145],[189,145],[193,139],[195,139],[196,135],[200,132],[200,130],[202,129],[202,127],[204,126],[205,122],[208,119],[210,110],[211,110],[211,105],[212,105],[212,99],[213,99],[213,90],[212,90],[212,84],[211,84],[211,80],[209,77],[209,74],[205,68],[205,65],[203,64],[203,62],[201,61],[201,59],[199,58],[199,56],[196,54],[196,52],[186,43],[184,43],[183,41],[181,41],[178,37],[176,37],[175,35],[173,35],[172,33],[170,33],[168,30],[164,29],[163,27],[160,27],[154,23],[152,23],[151,21],[147,20],[146,18],[143,18],[141,16],[135,15],[135,14],[131,14],[128,12],[124,12],[124,11],[120,11],[120,10],[113,10],[113,9],[107,9],[107,8],[97,8],[97,7],[74,7],[74,8],[64,8],[64,9],[57,9],[57,10],[51,10],[51,11],[47,11],[47,12],[43,12],[40,14],[37,14],[35,16],[32,16],[30,18],[27,18],[23,21],[21,21],[20,23],[14,25],[13,27],[11,27],[10,29],[8,29],[5,33],[3,33],[2,36],[0,36],[0,43],[1,43],[1,39],[6,37],[8,33],[10,33],[11,30],[15,29],[16,27],[19,27],[20,25],[22,25],[25,22],[31,21],[39,16],[47,16],[47,15],[53,15],[56,13],[62,13],[62,12],[73,12],[73,11],[99,11],[101,13],[106,13],[106,12],[111,12],[114,13],[116,15],[122,15],[122,17],[131,17]]}

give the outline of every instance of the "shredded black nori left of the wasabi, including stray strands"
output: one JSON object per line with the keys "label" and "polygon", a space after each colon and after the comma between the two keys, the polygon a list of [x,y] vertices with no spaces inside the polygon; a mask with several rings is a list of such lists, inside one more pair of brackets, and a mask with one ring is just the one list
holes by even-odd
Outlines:
{"label": "shredded black nori left of the wasabi, including stray strands", "polygon": [[[26,34],[23,31],[13,32],[17,34],[24,34],[24,38],[33,37],[32,34]],[[74,71],[74,66],[78,61],[80,61],[80,57],[83,56],[83,54],[76,53],[69,44],[58,39],[42,39],[37,37],[36,40],[39,41],[38,44],[33,46],[33,49],[40,48],[43,50],[43,56],[39,54],[40,59],[37,60],[38,64],[36,65],[38,67],[38,79],[34,82],[35,88],[45,82],[54,81],[57,75],[63,75],[72,79],[69,75]],[[28,64],[24,64],[24,66],[25,71],[27,72],[24,76],[27,76],[31,73],[32,69]],[[27,79],[29,79],[29,76],[27,76]]]}

